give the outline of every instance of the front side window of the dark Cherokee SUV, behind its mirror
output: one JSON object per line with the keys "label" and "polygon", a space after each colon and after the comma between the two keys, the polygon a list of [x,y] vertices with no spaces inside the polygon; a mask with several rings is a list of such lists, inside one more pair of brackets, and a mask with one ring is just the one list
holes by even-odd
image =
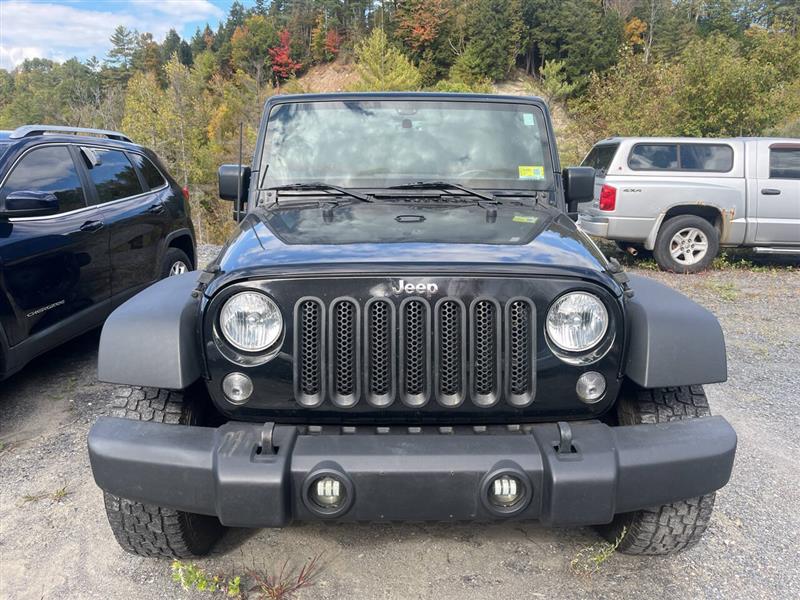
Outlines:
{"label": "front side window of the dark Cherokee SUV, behind its mirror", "polygon": [[28,152],[6,179],[0,198],[23,190],[54,194],[59,213],[86,206],[78,170],[66,146],[42,146]]}

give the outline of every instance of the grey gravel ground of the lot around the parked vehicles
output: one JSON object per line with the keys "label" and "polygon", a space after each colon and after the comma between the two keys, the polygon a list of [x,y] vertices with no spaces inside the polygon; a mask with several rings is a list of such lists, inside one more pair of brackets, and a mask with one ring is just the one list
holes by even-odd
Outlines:
{"label": "grey gravel ground of the lot around the parked vehicles", "polygon": [[[202,248],[203,260],[215,251]],[[730,379],[707,392],[739,451],[694,549],[614,555],[586,577],[569,563],[597,543],[588,528],[305,524],[232,530],[198,564],[243,572],[322,553],[324,570],[300,598],[800,597],[800,272],[641,272],[711,309],[728,343]],[[0,598],[195,597],[171,581],[169,562],[120,550],[106,523],[86,453],[111,392],[95,378],[97,341],[85,335],[0,384]]]}

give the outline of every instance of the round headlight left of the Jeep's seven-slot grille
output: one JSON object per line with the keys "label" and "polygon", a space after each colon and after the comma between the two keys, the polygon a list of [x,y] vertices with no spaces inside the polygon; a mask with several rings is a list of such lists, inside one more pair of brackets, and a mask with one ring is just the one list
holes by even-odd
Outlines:
{"label": "round headlight left of the Jeep's seven-slot grille", "polygon": [[261,352],[272,346],[283,331],[278,306],[264,294],[239,292],[231,296],[219,314],[222,335],[235,348]]}

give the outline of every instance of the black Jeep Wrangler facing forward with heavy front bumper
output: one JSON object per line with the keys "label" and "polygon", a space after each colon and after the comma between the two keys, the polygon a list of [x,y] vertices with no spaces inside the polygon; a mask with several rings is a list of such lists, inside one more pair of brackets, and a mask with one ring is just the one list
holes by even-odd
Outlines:
{"label": "black Jeep Wrangler facing forward with heavy front bumper", "polygon": [[593,183],[536,98],[269,100],[252,166],[220,169],[238,233],[103,330],[100,378],[129,387],[89,453],[119,543],[313,519],[697,541],[736,450],[700,387],[722,331],[576,227]]}

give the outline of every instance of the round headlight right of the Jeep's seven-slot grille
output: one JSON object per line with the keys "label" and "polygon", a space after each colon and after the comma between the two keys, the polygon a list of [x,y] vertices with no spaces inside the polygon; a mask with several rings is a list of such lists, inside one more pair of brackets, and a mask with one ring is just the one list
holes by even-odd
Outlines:
{"label": "round headlight right of the Jeep's seven-slot grille", "polygon": [[547,336],[561,350],[584,352],[596,346],[608,330],[608,311],[597,296],[570,292],[547,312]]}

